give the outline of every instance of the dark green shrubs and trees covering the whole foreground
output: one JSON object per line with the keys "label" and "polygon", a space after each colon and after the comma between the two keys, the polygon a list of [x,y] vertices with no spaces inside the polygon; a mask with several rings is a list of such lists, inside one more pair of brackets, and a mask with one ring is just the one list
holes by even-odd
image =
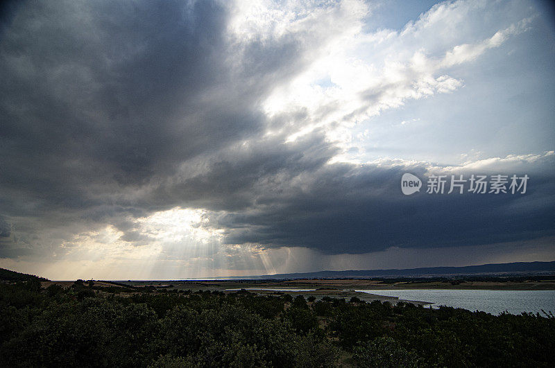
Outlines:
{"label": "dark green shrubs and trees covering the whole foreground", "polygon": [[0,367],[555,366],[549,314],[126,291],[0,283]]}

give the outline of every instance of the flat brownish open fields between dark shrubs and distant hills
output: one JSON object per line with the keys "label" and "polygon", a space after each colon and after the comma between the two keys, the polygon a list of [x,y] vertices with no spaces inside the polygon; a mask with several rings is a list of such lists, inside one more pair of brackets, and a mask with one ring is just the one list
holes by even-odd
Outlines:
{"label": "flat brownish open fields between dark shrubs and distant hills", "polygon": [[[73,281],[42,281],[42,287],[47,288],[56,283],[63,288],[69,288]],[[85,284],[87,281],[85,281]],[[399,301],[415,305],[430,306],[429,300],[400,299],[395,296],[379,295],[379,292],[369,294],[355,290],[555,290],[555,280],[511,280],[511,281],[391,281],[370,279],[298,279],[284,281],[257,280],[160,280],[160,281],[94,281],[96,290],[100,292],[123,295],[136,295],[142,292],[191,292],[210,291],[231,294],[244,289],[256,295],[280,296],[289,294],[293,297],[302,295],[321,300],[325,297],[350,300],[355,297],[362,301],[388,301],[397,304]],[[278,290],[276,290],[278,289]],[[422,298],[424,299],[424,298]]]}

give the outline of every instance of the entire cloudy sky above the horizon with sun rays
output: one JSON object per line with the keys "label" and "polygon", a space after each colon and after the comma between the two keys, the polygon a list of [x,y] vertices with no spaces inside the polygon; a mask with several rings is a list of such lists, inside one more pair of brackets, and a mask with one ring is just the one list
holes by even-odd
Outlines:
{"label": "entire cloudy sky above the horizon with sun rays", "polygon": [[6,3],[0,267],[554,261],[554,19],[522,0]]}

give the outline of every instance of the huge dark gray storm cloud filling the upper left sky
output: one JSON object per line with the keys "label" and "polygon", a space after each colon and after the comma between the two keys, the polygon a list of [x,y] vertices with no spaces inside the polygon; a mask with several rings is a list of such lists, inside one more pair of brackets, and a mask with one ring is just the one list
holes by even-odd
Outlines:
{"label": "huge dark gray storm cloud filling the upper left sky", "polygon": [[144,215],[113,197],[259,134],[260,98],[302,64],[294,39],[230,46],[217,2],[15,10],[0,42],[0,205],[41,223]]}

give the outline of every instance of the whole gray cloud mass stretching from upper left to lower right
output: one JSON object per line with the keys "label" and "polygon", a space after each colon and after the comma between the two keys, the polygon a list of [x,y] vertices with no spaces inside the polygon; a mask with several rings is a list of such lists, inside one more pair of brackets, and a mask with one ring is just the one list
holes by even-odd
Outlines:
{"label": "whole gray cloud mass stretching from upper left to lower right", "polygon": [[[225,243],[328,254],[554,234],[552,156],[531,164],[526,195],[404,197],[402,173],[423,178],[429,164],[330,164],[341,148],[317,128],[286,142],[309,114],[268,116],[262,103],[325,37],[240,40],[231,17],[212,1],[12,9],[0,38],[0,256],[51,254],[107,224],[144,245],[130,219],[178,206],[205,209]],[[365,98],[388,96],[382,87]]]}

